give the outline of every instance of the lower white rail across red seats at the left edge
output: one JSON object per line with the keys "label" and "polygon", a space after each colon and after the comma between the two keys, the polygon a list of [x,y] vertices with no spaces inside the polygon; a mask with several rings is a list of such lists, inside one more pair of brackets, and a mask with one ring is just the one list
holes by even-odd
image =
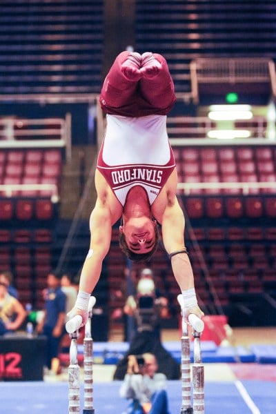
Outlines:
{"label": "lower white rail across red seats at the left edge", "polygon": [[[45,191],[49,193],[52,203],[59,201],[59,192],[56,184],[0,184],[1,197],[16,197],[17,193],[21,193],[21,197],[29,197],[33,191]],[[24,195],[26,193],[26,196]],[[43,195],[41,195],[43,197]]]}

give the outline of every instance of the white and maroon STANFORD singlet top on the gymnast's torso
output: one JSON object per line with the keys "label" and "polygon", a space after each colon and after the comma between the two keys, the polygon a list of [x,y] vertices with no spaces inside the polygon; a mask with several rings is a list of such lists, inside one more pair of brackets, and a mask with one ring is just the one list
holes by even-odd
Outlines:
{"label": "white and maroon STANFORD singlet top on the gymnast's torso", "polygon": [[97,169],[122,206],[133,186],[142,186],[152,205],[175,168],[166,115],[106,115],[106,121]]}

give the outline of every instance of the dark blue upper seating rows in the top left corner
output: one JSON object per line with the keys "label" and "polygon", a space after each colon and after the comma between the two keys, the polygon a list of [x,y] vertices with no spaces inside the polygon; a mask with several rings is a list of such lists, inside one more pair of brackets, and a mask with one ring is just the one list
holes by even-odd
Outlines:
{"label": "dark blue upper seating rows in the top left corner", "polygon": [[1,95],[99,92],[102,1],[21,1],[1,10]]}

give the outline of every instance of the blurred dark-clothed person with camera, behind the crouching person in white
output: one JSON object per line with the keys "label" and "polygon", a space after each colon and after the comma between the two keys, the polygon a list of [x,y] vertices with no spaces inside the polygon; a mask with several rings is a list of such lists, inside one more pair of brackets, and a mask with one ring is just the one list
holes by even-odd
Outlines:
{"label": "blurred dark-clothed person with camera, behind the crouching person in white", "polygon": [[180,366],[161,344],[160,319],[166,315],[167,300],[156,297],[156,288],[152,271],[144,269],[137,284],[137,294],[128,298],[124,311],[133,315],[136,333],[130,341],[126,355],[118,362],[114,379],[123,380],[127,371],[128,356],[152,353],[157,359],[159,372],[164,373],[168,380],[178,380]]}

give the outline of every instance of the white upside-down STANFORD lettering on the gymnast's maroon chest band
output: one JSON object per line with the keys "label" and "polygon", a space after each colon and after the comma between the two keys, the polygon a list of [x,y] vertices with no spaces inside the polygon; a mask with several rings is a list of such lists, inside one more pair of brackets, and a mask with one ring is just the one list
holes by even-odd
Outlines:
{"label": "white upside-down STANFORD lettering on the gymnast's maroon chest band", "polygon": [[157,168],[124,168],[111,172],[112,183],[115,186],[137,180],[161,184],[162,175],[163,171]]}

